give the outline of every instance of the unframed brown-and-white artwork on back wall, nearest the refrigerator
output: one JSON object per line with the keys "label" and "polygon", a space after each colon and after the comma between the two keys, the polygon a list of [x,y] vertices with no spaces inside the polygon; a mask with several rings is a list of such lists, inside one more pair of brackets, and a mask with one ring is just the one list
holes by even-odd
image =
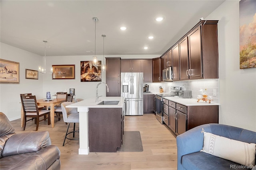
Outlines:
{"label": "unframed brown-and-white artwork on back wall, nearest the refrigerator", "polygon": [[92,61],[81,61],[80,67],[81,82],[101,82],[101,61],[96,65]]}

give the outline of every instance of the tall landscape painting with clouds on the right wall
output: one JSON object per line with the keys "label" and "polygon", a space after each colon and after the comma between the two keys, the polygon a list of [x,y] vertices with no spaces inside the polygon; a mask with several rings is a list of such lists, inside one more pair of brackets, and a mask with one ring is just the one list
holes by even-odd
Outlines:
{"label": "tall landscape painting with clouds on the right wall", "polygon": [[256,67],[256,0],[239,2],[240,69]]}

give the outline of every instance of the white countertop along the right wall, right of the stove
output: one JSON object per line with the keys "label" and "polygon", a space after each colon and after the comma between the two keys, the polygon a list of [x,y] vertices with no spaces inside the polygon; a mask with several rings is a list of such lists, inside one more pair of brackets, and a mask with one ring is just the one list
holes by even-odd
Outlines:
{"label": "white countertop along the right wall, right of the stove", "polygon": [[163,98],[167,100],[171,100],[173,102],[185,105],[185,106],[210,106],[210,105],[220,105],[218,103],[214,103],[214,100],[211,101],[211,103],[204,102],[203,100],[200,100],[197,102],[198,99],[195,98],[179,98],[179,97],[168,97],[168,96],[163,96]]}

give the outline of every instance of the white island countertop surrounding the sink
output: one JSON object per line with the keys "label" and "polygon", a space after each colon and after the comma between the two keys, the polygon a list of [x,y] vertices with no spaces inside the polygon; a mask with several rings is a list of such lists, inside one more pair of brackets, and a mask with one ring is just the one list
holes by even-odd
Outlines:
{"label": "white island countertop surrounding the sink", "polygon": [[[99,97],[99,102],[95,102],[96,98],[88,98],[74,104],[66,106],[67,108],[122,108],[124,106],[124,97]],[[116,105],[97,105],[103,100],[119,100]]]}

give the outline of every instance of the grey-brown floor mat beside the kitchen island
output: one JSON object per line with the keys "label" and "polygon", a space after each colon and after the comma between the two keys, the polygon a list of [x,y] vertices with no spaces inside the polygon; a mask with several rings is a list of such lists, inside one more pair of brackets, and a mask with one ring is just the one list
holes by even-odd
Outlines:
{"label": "grey-brown floor mat beside the kitchen island", "polygon": [[139,131],[124,131],[123,144],[119,152],[142,152],[143,146]]}

